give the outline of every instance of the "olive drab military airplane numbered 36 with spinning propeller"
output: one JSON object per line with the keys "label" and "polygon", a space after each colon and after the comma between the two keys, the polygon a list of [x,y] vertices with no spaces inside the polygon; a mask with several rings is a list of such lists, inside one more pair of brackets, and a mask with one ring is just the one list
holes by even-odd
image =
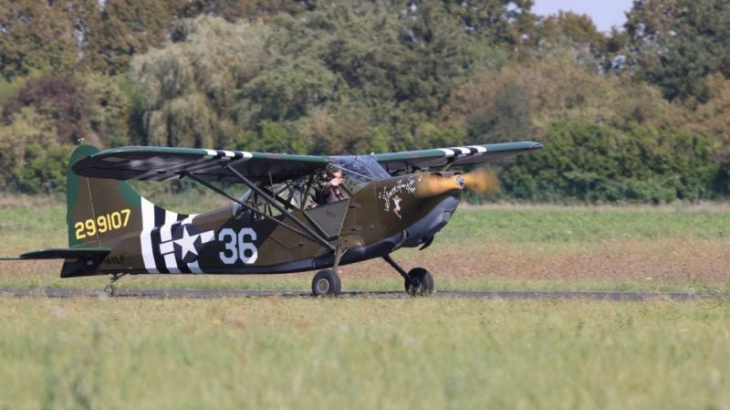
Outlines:
{"label": "olive drab military airplane numbered 36 with spinning propeller", "polygon": [[[110,295],[127,274],[319,270],[312,293],[322,296],[340,293],[340,266],[383,258],[403,277],[408,294],[428,295],[432,275],[420,267],[404,270],[391,253],[427,248],[464,189],[484,191],[496,183],[493,174],[449,169],[541,147],[526,141],[311,156],[169,147],[100,151],[82,145],[71,155],[66,180],[69,247],[20,258],[63,259],[62,278],[111,275],[105,288]],[[196,181],[230,205],[176,213],[125,182],[172,179]],[[234,197],[218,182],[248,190]]]}

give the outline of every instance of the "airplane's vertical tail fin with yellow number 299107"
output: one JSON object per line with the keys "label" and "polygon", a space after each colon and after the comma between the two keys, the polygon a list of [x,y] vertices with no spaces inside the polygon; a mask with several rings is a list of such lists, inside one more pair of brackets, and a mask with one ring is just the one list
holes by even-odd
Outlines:
{"label": "airplane's vertical tail fin with yellow number 299107", "polygon": [[71,154],[66,175],[68,243],[71,247],[99,247],[121,235],[140,232],[142,202],[146,201],[124,181],[86,178],[71,166],[99,152],[82,145]]}

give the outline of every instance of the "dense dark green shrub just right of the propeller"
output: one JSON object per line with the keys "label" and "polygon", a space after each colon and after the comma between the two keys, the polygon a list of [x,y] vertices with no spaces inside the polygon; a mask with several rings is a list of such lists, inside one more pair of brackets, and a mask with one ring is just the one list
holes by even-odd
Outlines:
{"label": "dense dark green shrub just right of the propeller", "polygon": [[702,134],[562,122],[544,140],[541,152],[506,165],[505,193],[589,203],[696,201],[720,194],[715,188],[722,174],[710,160],[712,141]]}

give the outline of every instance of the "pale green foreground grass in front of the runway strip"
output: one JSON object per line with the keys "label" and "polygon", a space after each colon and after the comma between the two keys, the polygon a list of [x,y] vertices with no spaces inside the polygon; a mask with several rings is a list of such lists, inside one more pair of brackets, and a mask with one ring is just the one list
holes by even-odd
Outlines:
{"label": "pale green foreground grass in front of the runway strip", "polygon": [[0,299],[0,408],[725,408],[729,307]]}

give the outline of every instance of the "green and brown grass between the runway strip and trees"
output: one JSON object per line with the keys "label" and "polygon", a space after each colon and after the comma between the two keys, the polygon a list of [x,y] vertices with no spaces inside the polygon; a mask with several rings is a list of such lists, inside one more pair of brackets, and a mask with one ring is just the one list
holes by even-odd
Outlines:
{"label": "green and brown grass between the runway strip and trees", "polygon": [[[27,201],[27,203],[23,203]],[[36,201],[36,202],[33,202]],[[189,206],[183,204],[167,206]],[[64,247],[65,207],[32,199],[0,201],[0,256]],[[650,290],[728,292],[730,208],[464,207],[425,251],[394,254],[422,265],[437,289]],[[2,287],[103,287],[105,278],[61,280],[59,262],[5,262]],[[130,288],[306,290],[313,275],[138,276]],[[383,261],[343,267],[347,290],[400,290]]]}

